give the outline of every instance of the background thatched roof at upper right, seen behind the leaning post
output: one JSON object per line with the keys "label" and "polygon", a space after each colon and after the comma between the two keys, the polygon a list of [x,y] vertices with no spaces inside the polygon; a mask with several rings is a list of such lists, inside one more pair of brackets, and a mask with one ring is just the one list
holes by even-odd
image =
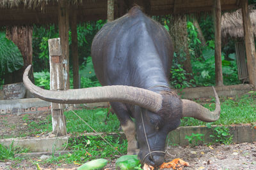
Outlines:
{"label": "background thatched roof at upper right, seen behind the leaning post", "polygon": [[[252,22],[252,30],[256,36],[256,10],[253,6],[249,6],[250,18]],[[243,38],[243,17],[241,9],[231,13],[224,13],[221,17],[221,36],[223,38],[230,36],[232,38]]]}

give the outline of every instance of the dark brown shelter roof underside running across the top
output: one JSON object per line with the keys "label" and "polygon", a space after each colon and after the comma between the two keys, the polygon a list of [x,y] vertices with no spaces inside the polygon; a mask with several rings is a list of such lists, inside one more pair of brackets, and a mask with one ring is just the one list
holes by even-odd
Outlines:
{"label": "dark brown shelter roof underside running across the top", "polygon": [[[0,0],[0,26],[20,24],[51,24],[58,22],[60,0]],[[77,6],[77,20],[106,19],[108,0],[67,0]],[[243,0],[221,1],[221,10],[236,10]],[[148,15],[168,15],[212,11],[212,0],[115,0],[115,17],[120,17],[138,4]],[[123,10],[123,12],[120,12]],[[70,12],[72,15],[72,11]]]}

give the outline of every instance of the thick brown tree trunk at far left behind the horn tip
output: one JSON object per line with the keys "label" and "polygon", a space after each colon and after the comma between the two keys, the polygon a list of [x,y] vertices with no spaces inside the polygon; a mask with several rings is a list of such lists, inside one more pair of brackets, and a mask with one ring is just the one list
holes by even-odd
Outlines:
{"label": "thick brown tree trunk at far left behind the horn tip", "polygon": [[[22,82],[23,72],[29,64],[32,64],[32,26],[10,26],[6,27],[6,38],[10,39],[18,46],[23,57],[24,66],[18,71],[6,74],[4,84]],[[29,72],[29,78],[34,81],[33,67]]]}

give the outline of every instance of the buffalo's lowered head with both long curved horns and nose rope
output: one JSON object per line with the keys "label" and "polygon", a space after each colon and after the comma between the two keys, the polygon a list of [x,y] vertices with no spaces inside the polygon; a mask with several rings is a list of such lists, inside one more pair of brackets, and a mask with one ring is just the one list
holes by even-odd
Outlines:
{"label": "buffalo's lowered head with both long curved horns and nose rope", "polygon": [[216,97],[216,109],[209,111],[193,101],[180,99],[171,91],[152,92],[123,85],[51,91],[36,87],[28,78],[28,66],[23,75],[26,88],[35,96],[52,103],[113,102],[136,105],[136,133],[142,163],[159,166],[164,162],[165,141],[168,132],[176,129],[180,118],[193,117],[204,122],[214,122],[220,117],[220,100]]}

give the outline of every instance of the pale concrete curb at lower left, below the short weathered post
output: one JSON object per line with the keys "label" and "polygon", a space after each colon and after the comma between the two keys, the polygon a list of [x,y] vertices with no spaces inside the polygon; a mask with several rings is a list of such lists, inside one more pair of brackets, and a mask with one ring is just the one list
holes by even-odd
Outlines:
{"label": "pale concrete curb at lower left, below the short weathered post", "polygon": [[67,137],[58,138],[30,138],[30,139],[1,139],[0,143],[4,146],[21,146],[29,148],[30,152],[52,152],[56,150],[63,150],[64,144],[67,143]]}

